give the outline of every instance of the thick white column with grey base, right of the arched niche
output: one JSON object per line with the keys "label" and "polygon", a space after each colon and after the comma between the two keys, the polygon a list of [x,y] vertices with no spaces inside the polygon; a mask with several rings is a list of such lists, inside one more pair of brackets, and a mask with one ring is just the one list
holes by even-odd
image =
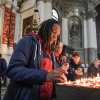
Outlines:
{"label": "thick white column with grey base, right of the arched niche", "polygon": [[87,20],[88,57],[89,61],[97,57],[96,24],[94,18]]}

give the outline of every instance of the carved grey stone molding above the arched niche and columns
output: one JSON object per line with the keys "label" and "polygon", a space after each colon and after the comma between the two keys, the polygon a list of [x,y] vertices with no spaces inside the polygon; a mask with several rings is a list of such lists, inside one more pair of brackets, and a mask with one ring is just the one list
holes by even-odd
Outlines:
{"label": "carved grey stone molding above the arched niche and columns", "polygon": [[[96,17],[95,7],[100,4],[100,0],[55,0],[52,4],[60,9],[63,17],[77,15],[84,19]],[[75,14],[75,9],[79,10],[78,14]]]}

